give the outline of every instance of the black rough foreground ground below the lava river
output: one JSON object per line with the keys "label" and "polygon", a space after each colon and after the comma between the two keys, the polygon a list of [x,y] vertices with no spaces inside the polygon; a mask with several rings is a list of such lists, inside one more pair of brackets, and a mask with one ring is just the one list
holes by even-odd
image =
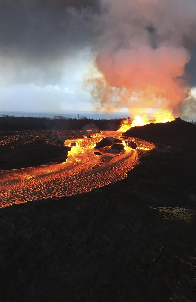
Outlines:
{"label": "black rough foreground ground below the lava river", "polygon": [[[1,301],[196,301],[194,151],[159,146],[94,191],[0,209]],[[172,300],[169,300],[172,299]]]}

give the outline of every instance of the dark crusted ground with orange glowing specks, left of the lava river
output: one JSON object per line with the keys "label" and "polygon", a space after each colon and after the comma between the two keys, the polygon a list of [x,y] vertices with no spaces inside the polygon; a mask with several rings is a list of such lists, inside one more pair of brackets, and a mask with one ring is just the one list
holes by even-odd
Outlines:
{"label": "dark crusted ground with orange glowing specks, left of the lava river", "polygon": [[48,162],[65,162],[66,139],[83,138],[94,131],[1,131],[0,170],[19,169]]}

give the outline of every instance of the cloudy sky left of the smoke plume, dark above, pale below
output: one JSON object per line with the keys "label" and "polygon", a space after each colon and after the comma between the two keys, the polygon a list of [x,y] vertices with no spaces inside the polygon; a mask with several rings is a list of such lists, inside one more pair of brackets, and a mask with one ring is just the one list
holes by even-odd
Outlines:
{"label": "cloudy sky left of the smoke plume, dark above, pale below", "polygon": [[96,0],[0,1],[0,111],[93,110],[83,74],[95,11]]}

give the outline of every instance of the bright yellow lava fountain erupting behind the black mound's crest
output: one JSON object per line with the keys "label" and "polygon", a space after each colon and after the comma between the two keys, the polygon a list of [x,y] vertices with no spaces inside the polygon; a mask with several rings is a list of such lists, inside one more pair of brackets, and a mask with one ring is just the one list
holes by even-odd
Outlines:
{"label": "bright yellow lava fountain erupting behind the black mound's crest", "polygon": [[126,132],[127,130],[135,126],[144,126],[150,123],[166,123],[171,122],[172,120],[174,120],[173,115],[168,110],[156,112],[154,114],[153,120],[149,120],[147,114],[143,115],[142,117],[140,115],[137,115],[132,122],[130,119],[124,120],[118,131]]}

